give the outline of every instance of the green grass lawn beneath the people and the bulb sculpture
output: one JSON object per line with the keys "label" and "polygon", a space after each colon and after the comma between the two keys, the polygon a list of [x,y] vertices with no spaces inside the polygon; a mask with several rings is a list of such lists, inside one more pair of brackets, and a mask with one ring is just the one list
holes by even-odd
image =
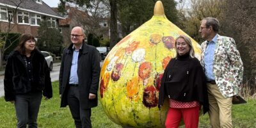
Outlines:
{"label": "green grass lawn beneath the people and the bulb sculpture", "polygon": [[[68,108],[60,108],[58,97],[58,82],[52,83],[54,97],[50,100],[42,100],[38,114],[38,127],[40,128],[73,128],[74,122]],[[14,128],[16,125],[15,109],[13,104],[0,98],[0,128]],[[232,107],[232,120],[234,128],[256,127],[256,100],[248,100],[247,104],[234,105]],[[92,127],[94,128],[121,128],[120,125],[109,120],[102,106],[92,109]],[[209,117],[200,117],[200,127],[209,127]]]}

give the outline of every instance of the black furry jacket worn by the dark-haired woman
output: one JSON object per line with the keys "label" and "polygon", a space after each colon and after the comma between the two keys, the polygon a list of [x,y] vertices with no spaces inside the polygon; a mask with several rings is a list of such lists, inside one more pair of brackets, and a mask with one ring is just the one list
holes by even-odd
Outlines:
{"label": "black furry jacket worn by the dark-haired woman", "polygon": [[33,91],[43,91],[47,98],[52,97],[52,84],[49,67],[44,55],[35,49],[31,52],[32,76],[30,82],[26,63],[18,51],[10,53],[4,72],[4,99],[15,100],[15,95]]}

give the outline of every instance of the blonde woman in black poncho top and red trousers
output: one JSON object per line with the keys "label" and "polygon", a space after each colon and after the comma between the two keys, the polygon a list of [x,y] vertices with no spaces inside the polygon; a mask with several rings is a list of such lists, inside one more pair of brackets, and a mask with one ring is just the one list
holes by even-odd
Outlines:
{"label": "blonde woman in black poncho top and red trousers", "polygon": [[175,40],[175,48],[177,57],[170,60],[161,81],[159,108],[163,106],[164,97],[168,97],[167,128],[179,127],[181,118],[185,127],[197,128],[201,106],[204,113],[209,108],[205,74],[187,36],[180,35]]}

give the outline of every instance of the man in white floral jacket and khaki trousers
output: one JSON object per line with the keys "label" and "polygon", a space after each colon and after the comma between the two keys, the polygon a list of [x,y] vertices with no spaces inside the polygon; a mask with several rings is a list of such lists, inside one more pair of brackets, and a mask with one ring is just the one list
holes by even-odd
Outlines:
{"label": "man in white floral jacket and khaki trousers", "polygon": [[207,78],[211,126],[232,127],[232,97],[243,81],[243,62],[233,38],[218,35],[219,21],[207,17],[201,21],[201,64]]}

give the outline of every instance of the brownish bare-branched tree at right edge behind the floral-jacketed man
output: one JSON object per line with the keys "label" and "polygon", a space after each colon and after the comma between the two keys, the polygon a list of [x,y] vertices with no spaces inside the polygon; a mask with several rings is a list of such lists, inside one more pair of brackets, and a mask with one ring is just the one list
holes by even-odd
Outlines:
{"label": "brownish bare-branched tree at right edge behind the floral-jacketed man", "polygon": [[236,40],[244,63],[244,79],[255,80],[256,33],[253,31],[256,29],[255,0],[227,0],[222,8],[225,12],[220,19],[223,33]]}

